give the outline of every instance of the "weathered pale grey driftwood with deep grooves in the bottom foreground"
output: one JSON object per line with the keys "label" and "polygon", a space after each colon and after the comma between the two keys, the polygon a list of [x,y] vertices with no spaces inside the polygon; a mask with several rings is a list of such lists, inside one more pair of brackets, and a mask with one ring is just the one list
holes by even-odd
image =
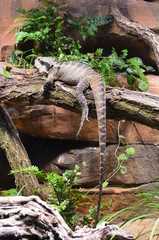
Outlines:
{"label": "weathered pale grey driftwood with deep grooves in the bottom foreground", "polygon": [[39,197],[0,197],[0,239],[132,240],[116,225],[72,231],[55,208]]}

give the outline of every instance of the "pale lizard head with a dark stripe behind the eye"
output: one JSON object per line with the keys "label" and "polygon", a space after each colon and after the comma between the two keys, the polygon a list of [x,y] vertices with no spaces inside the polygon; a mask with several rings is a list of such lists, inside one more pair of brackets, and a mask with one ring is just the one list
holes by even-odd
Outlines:
{"label": "pale lizard head with a dark stripe behind the eye", "polygon": [[40,73],[46,74],[56,63],[57,60],[53,57],[38,57],[35,59],[34,66]]}

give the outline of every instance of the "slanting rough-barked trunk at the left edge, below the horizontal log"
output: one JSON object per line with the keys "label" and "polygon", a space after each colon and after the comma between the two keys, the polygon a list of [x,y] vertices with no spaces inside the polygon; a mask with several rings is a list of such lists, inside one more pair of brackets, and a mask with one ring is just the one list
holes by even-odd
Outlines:
{"label": "slanting rough-barked trunk at the left edge, below the horizontal log", "polygon": [[[25,148],[19,138],[12,120],[3,107],[0,106],[0,146],[4,150],[12,170],[31,166],[31,162]],[[28,174],[30,176],[28,177]],[[34,175],[27,173],[15,173],[15,184],[23,189],[24,195],[32,195],[39,192],[39,183]]]}

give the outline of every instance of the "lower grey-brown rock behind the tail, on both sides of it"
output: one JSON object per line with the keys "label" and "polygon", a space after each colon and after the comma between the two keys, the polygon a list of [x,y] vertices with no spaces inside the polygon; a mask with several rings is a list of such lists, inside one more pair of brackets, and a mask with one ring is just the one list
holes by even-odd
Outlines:
{"label": "lower grey-brown rock behind the tail, on both sides of it", "polygon": [[[110,183],[115,185],[139,185],[144,183],[155,182],[158,179],[159,171],[159,147],[153,145],[132,145],[135,148],[134,157],[130,157],[123,165],[127,168],[126,174],[118,171],[115,175],[114,170],[117,168],[117,159],[114,156],[116,145],[110,145],[106,149],[106,173],[105,180],[110,178]],[[117,155],[124,153],[124,147],[120,147]],[[86,166],[83,165],[86,163]],[[98,184],[99,179],[99,149],[84,148],[69,150],[59,155],[53,163],[60,169],[73,169],[77,164],[80,167],[81,175],[79,183],[83,186],[94,187]],[[49,163],[51,164],[51,163]],[[49,165],[47,166],[49,169]]]}

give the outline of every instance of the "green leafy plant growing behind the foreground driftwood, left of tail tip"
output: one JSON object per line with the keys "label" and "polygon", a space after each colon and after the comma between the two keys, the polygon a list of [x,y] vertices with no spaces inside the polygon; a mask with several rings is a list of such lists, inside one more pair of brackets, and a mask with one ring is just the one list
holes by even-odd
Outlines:
{"label": "green leafy plant growing behind the foreground driftwood, left of tail tip", "polygon": [[[83,163],[85,166],[85,163]],[[87,194],[82,193],[79,189],[79,184],[77,184],[78,176],[80,175],[79,167],[76,165],[73,170],[66,170],[61,176],[57,173],[43,172],[39,170],[37,166],[30,166],[26,168],[19,168],[12,170],[10,174],[15,174],[19,172],[24,172],[28,174],[31,172],[35,174],[39,180],[41,180],[48,189],[47,202],[56,207],[61,213],[66,223],[74,229],[76,225],[87,225],[93,226],[97,207],[90,206],[88,214],[78,213],[78,208],[88,206],[91,204],[91,198]],[[28,177],[30,175],[28,174]],[[25,186],[24,186],[25,188]],[[46,191],[46,189],[45,189]],[[5,191],[5,196],[13,194],[20,195],[21,190],[8,190]],[[12,195],[13,195],[12,194]],[[112,206],[112,201],[109,200],[108,203],[101,204],[100,217],[103,218],[106,211]],[[104,211],[104,213],[102,213]]]}

